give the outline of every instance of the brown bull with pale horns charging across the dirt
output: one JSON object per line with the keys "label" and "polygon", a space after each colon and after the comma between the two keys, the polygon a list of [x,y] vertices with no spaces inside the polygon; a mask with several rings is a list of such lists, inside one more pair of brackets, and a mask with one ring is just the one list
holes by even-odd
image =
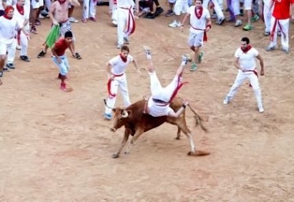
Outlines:
{"label": "brown bull with pale horns charging across the dirt", "polygon": [[[174,101],[170,104],[170,107],[176,112],[182,106],[182,101],[180,98],[176,97]],[[188,105],[189,106],[189,105]],[[201,117],[189,106],[192,112],[195,114],[194,118],[196,120],[196,125],[200,125],[200,127],[206,131],[205,127],[202,125]],[[188,155],[208,155],[208,152],[205,151],[196,151],[195,144],[193,142],[193,138],[191,136],[191,131],[188,129],[186,120],[185,120],[185,110],[183,113],[178,117],[170,117],[170,116],[159,116],[154,117],[150,116],[149,114],[144,114],[144,100],[137,101],[133,103],[128,108],[121,109],[116,108],[113,109],[114,116],[113,116],[113,127],[111,127],[111,131],[115,132],[120,127],[124,126],[124,138],[122,138],[122,143],[120,148],[116,153],[113,153],[112,157],[116,158],[119,157],[120,151],[126,144],[126,141],[129,138],[129,135],[133,136],[131,142],[129,144],[129,148],[125,153],[129,153],[131,151],[131,146],[134,144],[135,140],[139,138],[144,132],[153,129],[155,127],[159,127],[159,125],[167,122],[172,125],[178,126],[178,133],[176,134],[176,139],[179,140],[181,136],[181,131],[187,136],[189,143],[191,145],[191,151],[189,151]]]}

